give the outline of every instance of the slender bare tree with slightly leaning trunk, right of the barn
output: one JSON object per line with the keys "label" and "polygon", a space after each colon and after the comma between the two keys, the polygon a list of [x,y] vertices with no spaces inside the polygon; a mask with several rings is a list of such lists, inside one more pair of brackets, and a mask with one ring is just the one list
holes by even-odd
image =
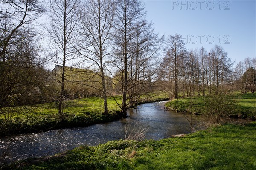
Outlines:
{"label": "slender bare tree with slightly leaning trunk, right of the barn", "polygon": [[[100,72],[104,98],[104,114],[108,114],[105,67],[109,55],[114,4],[111,0],[88,0],[80,14],[81,40],[86,44],[80,49],[86,59],[96,65]],[[84,44],[84,43],[82,43]],[[87,46],[88,45],[88,46]]]}

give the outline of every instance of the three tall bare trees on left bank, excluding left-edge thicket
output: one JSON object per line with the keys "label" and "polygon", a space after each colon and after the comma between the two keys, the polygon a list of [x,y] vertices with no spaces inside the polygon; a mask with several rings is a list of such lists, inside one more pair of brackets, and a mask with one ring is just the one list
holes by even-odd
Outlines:
{"label": "three tall bare trees on left bank, excluding left-edge thicket", "polygon": [[107,96],[111,95],[105,79],[113,77],[110,80],[122,95],[120,108],[125,116],[152,84],[156,54],[163,41],[145,20],[145,10],[137,0],[52,0],[50,7],[47,30],[53,42],[52,56],[62,65],[59,115],[65,99],[65,65],[72,60],[101,77],[105,114]]}

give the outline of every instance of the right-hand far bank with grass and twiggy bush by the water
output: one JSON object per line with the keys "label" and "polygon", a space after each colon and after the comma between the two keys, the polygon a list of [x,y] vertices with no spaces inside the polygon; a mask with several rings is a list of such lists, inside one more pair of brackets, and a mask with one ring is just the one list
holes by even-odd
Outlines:
{"label": "right-hand far bank with grass and twiggy bush by the water", "polygon": [[165,108],[204,115],[212,123],[218,123],[227,117],[255,119],[256,94],[220,92],[207,96],[179,98],[166,103]]}

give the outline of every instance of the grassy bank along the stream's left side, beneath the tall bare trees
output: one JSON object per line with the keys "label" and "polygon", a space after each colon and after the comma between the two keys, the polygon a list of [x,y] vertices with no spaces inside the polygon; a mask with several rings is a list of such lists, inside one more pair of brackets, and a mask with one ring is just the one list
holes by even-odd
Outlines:
{"label": "grassy bank along the stream's left side, beneath the tall bare trees", "polygon": [[[143,97],[142,103],[163,101],[164,95]],[[120,118],[121,98],[108,98],[108,115],[104,115],[104,101],[99,97],[69,100],[64,102],[64,119],[58,119],[58,103],[3,108],[0,114],[0,136],[32,133],[57,128],[88,126]]]}

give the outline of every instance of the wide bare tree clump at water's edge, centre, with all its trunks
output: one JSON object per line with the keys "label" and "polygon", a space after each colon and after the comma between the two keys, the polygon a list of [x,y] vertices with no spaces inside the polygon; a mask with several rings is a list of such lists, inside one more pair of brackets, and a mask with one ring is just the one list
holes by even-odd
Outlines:
{"label": "wide bare tree clump at water's edge, centre, with all its trunks", "polygon": [[122,93],[121,114],[125,116],[152,83],[163,38],[158,38],[152,23],[145,20],[145,11],[136,0],[117,1],[115,15],[110,73]]}

